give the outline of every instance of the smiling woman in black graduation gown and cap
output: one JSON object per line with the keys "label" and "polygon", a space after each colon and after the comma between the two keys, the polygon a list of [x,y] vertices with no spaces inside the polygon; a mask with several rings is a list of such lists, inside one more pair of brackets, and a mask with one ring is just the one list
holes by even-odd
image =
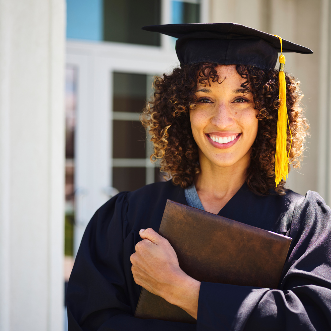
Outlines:
{"label": "smiling woman in black graduation gown and cap", "polygon": [[[329,330],[330,209],[315,192],[275,184],[278,38],[238,24],[146,29],[179,38],[181,66],[156,78],[142,119],[152,157],[172,179],[119,193],[93,216],[69,280],[69,330]],[[283,48],[311,53],[285,41]],[[286,75],[295,167],[307,130],[298,85]],[[293,238],[278,289],[186,275],[157,234],[167,199]],[[142,287],[197,324],[133,317]]]}

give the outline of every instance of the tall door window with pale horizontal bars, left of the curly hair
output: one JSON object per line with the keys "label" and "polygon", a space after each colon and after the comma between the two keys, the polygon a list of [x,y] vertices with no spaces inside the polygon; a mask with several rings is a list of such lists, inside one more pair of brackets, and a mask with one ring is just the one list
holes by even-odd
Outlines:
{"label": "tall door window with pale horizontal bars, left of the curly hair", "polygon": [[[113,184],[118,191],[133,191],[155,180],[149,160],[151,143],[139,115],[151,93],[152,76],[113,73]],[[158,177],[157,177],[158,179]]]}

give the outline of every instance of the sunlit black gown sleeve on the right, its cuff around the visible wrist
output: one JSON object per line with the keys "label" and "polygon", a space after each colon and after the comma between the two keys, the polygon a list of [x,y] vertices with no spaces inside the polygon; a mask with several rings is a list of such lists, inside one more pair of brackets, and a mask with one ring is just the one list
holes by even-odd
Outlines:
{"label": "sunlit black gown sleeve on the right, its cuff around the visible wrist", "polygon": [[308,191],[293,212],[278,289],[201,283],[197,331],[331,330],[330,208]]}

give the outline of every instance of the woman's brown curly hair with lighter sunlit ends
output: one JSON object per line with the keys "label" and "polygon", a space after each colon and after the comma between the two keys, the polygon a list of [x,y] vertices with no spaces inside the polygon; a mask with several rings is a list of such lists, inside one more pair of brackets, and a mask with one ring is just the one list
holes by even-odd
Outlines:
{"label": "woman's brown curly hair with lighter sunlit ends", "polygon": [[[198,83],[205,86],[211,86],[211,81],[221,83],[217,66],[217,63],[181,65],[170,75],[156,77],[154,98],[147,102],[141,115],[141,122],[154,144],[151,160],[160,159],[161,171],[182,188],[190,186],[200,172],[198,146],[189,118],[189,110],[196,107],[194,91]],[[245,93],[252,93],[255,108],[259,110],[258,134],[252,146],[246,182],[256,194],[267,195],[273,188],[277,194],[284,195],[285,181],[276,186],[274,165],[279,107],[278,71],[265,72],[246,65],[237,65],[236,70],[245,79],[241,85],[247,90]],[[300,106],[303,96],[299,89],[300,82],[287,74],[285,77],[287,111],[293,137],[289,159],[294,168],[299,168],[308,123]],[[291,141],[289,128],[287,137],[288,152]]]}

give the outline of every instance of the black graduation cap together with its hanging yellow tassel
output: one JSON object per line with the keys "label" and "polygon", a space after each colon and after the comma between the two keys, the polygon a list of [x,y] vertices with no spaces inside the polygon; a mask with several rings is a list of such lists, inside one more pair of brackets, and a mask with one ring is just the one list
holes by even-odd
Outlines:
{"label": "black graduation cap together with its hanging yellow tassel", "polygon": [[[149,25],[146,31],[160,32],[176,40],[176,53],[181,64],[211,62],[223,65],[251,65],[263,71],[275,68],[279,57],[279,101],[275,155],[275,182],[286,180],[288,175],[285,57],[283,52],[312,54],[304,46],[236,23],[196,23]],[[292,132],[291,145],[292,145]],[[290,145],[290,150],[291,150]]]}

